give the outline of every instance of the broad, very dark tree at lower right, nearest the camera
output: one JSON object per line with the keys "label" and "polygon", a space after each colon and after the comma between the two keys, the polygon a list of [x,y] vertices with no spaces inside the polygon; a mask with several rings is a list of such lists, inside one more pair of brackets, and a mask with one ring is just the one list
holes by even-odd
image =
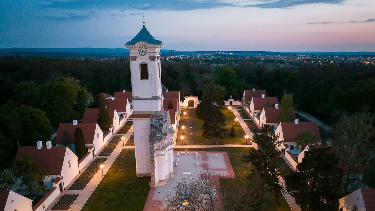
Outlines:
{"label": "broad, very dark tree at lower right, nearest the camera", "polygon": [[342,183],[342,170],[338,158],[329,148],[305,152],[298,172],[285,177],[288,192],[302,210],[338,210]]}

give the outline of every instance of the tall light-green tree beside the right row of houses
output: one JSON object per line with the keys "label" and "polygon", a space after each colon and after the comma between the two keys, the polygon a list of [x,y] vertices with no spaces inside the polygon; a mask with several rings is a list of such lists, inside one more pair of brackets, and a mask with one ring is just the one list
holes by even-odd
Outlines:
{"label": "tall light-green tree beside the right row of houses", "polygon": [[294,107],[293,93],[284,93],[280,101],[280,112],[277,115],[278,123],[293,122],[294,121]]}

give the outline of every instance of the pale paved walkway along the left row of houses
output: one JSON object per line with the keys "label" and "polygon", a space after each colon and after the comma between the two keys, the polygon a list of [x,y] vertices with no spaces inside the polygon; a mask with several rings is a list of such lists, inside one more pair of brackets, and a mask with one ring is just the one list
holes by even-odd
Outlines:
{"label": "pale paved walkway along the left row of houses", "polygon": [[[125,140],[126,141],[129,140],[129,137],[132,134],[133,134],[133,126],[125,134],[125,136],[124,136]],[[116,148],[113,150],[113,152],[110,156],[95,156],[92,159],[92,161],[93,161],[93,160],[95,160],[95,158],[107,158],[107,160],[103,164],[104,165],[104,168],[103,168],[104,175],[110,169],[110,167],[112,166],[113,162],[116,160],[117,156],[120,154],[122,149],[134,149],[134,146],[122,146],[122,145],[123,145],[123,143],[122,143],[122,141],[120,141],[118,143],[118,145],[116,146]],[[99,154],[100,154],[100,152],[98,152],[98,155]],[[89,166],[89,164],[87,166]],[[81,172],[83,172],[83,171],[81,171]],[[78,178],[78,176],[77,176],[77,178]],[[100,181],[102,181],[102,179],[103,179],[102,171],[101,171],[101,169],[99,169],[98,172],[96,172],[96,174],[93,176],[93,178],[91,179],[89,184],[87,184],[87,186],[85,187],[84,190],[64,190],[64,191],[62,191],[60,193],[60,196],[57,197],[56,200],[54,202],[52,202],[51,205],[46,210],[51,210],[52,206],[55,205],[57,200],[60,199],[60,197],[63,194],[80,194],[80,196],[78,196],[78,198],[75,200],[75,202],[69,208],[69,210],[81,210],[82,207],[84,206],[84,204],[86,203],[86,201],[91,196],[91,194],[94,192],[95,188],[100,183]],[[73,181],[71,182],[71,184],[69,184],[69,186],[66,189],[69,189],[70,185],[72,185],[72,184],[73,184]]]}

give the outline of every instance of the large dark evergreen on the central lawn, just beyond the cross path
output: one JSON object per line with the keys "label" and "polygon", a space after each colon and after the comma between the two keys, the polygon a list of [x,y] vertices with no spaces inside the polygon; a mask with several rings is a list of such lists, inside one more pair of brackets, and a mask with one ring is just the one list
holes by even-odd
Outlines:
{"label": "large dark evergreen on the central lawn, just beyond the cross path", "polygon": [[228,133],[225,128],[225,116],[220,112],[219,107],[216,107],[213,103],[207,103],[206,106],[203,115],[202,137],[210,140],[215,139],[216,145],[219,145],[218,139],[226,138]]}

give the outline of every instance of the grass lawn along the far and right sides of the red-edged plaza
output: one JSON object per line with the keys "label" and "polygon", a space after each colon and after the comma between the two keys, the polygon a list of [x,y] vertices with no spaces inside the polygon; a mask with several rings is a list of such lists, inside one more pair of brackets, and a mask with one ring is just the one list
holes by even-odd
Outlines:
{"label": "grass lawn along the far and right sides of the red-edged plaza", "polygon": [[[248,153],[251,148],[242,148],[242,152]],[[175,151],[184,151],[189,149],[174,149]],[[228,153],[229,160],[231,160],[234,175],[238,182],[246,182],[246,173],[251,167],[251,163],[246,163],[241,160],[240,148],[194,148],[194,151],[226,151]],[[220,182],[225,182],[226,179],[220,179]],[[280,194],[279,197],[280,206],[277,211],[291,211],[288,202],[284,196]]]}

